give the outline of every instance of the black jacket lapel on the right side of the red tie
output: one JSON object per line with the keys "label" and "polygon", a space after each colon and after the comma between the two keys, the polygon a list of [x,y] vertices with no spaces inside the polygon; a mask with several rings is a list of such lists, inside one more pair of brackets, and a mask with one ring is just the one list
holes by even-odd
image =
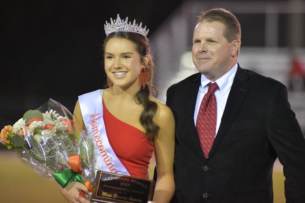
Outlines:
{"label": "black jacket lapel on the right side of the red tie", "polygon": [[231,126],[234,117],[236,116],[242,101],[244,100],[249,86],[245,83],[248,75],[245,70],[239,67],[233,80],[233,84],[228,96],[226,106],[224,108],[224,113],[221,118],[221,123],[216,135],[216,138],[213,142],[209,156],[217,149],[218,145],[221,143],[222,138],[228,131],[228,128]]}

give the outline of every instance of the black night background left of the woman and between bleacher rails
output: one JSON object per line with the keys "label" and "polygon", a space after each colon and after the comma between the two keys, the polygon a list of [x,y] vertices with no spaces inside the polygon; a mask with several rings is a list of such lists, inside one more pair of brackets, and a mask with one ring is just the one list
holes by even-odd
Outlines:
{"label": "black night background left of the woman and between bleacher rails", "polygon": [[[73,113],[77,96],[105,84],[101,63],[105,21],[115,19],[117,13],[121,19],[128,16],[129,21],[146,25],[150,37],[182,2],[2,2],[0,127],[13,125],[25,111],[37,109],[49,98]],[[264,14],[236,16],[242,26],[242,46],[264,46]],[[279,29],[286,30],[285,17],[280,16]],[[279,39],[279,47],[289,43],[285,32]]]}

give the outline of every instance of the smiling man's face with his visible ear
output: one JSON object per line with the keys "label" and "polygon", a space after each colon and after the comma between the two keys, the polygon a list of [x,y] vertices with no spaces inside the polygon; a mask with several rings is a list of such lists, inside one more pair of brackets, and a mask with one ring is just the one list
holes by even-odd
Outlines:
{"label": "smiling man's face with his visible ear", "polygon": [[223,34],[224,24],[217,21],[200,22],[194,30],[193,62],[198,71],[211,81],[220,78],[236,63],[232,61],[234,40],[229,43]]}

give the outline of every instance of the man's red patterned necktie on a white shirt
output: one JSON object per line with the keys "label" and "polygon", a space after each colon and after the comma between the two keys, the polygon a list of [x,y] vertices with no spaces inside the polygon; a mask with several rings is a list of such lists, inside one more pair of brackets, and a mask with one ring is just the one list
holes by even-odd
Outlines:
{"label": "man's red patterned necktie on a white shirt", "polygon": [[209,83],[209,90],[203,96],[196,121],[200,145],[205,157],[208,156],[216,133],[217,105],[214,92],[218,89],[216,82]]}

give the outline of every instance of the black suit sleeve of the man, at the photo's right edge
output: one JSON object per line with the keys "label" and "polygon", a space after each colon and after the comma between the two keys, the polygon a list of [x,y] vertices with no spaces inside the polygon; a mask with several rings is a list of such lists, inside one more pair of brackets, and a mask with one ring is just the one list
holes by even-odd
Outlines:
{"label": "black suit sleeve of the man, at the photo's right edge", "polygon": [[286,202],[305,202],[305,139],[290,109],[287,89],[281,87],[274,97],[268,119],[268,138],[284,166]]}

